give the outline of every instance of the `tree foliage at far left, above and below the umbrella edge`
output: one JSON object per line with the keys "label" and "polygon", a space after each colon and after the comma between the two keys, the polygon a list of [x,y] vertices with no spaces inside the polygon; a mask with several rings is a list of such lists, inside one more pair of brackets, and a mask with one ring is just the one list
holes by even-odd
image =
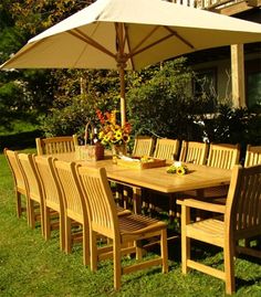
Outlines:
{"label": "tree foliage at far left, above and below the umbrella edge", "polygon": [[[0,64],[15,53],[29,38],[82,9],[86,3],[71,0],[1,1]],[[50,70],[0,72],[1,126],[11,128],[10,124],[15,118],[29,119],[29,115],[33,114],[31,118],[35,119],[39,114],[46,113],[55,99],[55,94],[59,94],[61,73]]]}

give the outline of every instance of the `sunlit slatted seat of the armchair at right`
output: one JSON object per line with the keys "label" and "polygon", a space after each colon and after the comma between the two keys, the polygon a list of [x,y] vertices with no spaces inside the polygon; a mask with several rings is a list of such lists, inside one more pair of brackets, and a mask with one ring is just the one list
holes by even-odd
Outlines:
{"label": "sunlit slatted seat of the armchair at right", "polygon": [[221,216],[208,219],[187,225],[187,236],[195,240],[216,244],[223,247],[225,244],[225,223]]}

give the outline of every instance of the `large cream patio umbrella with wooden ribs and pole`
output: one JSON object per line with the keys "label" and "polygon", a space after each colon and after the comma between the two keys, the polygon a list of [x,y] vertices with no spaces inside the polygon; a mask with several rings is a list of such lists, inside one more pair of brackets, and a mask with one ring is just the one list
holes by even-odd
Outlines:
{"label": "large cream patio umbrella with wooden ribs and pole", "polygon": [[261,24],[163,0],[97,0],[29,40],[1,68],[125,70],[194,51],[261,41]]}

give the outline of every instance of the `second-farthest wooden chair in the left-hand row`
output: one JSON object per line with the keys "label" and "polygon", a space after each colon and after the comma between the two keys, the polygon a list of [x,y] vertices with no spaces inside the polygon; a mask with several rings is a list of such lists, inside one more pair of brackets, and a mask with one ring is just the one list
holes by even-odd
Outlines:
{"label": "second-farthest wooden chair in the left-hand row", "polygon": [[[44,201],[33,156],[32,153],[18,153],[18,160],[25,182],[30,226],[34,229],[36,221],[40,221],[42,235],[44,236]],[[40,213],[35,212],[35,202],[39,205]]]}

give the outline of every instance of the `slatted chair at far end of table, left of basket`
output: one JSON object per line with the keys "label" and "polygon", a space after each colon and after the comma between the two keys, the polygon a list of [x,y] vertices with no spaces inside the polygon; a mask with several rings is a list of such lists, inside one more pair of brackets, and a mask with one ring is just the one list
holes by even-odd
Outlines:
{"label": "slatted chair at far end of table, left of basket", "polygon": [[38,155],[52,155],[75,151],[77,136],[35,138]]}

